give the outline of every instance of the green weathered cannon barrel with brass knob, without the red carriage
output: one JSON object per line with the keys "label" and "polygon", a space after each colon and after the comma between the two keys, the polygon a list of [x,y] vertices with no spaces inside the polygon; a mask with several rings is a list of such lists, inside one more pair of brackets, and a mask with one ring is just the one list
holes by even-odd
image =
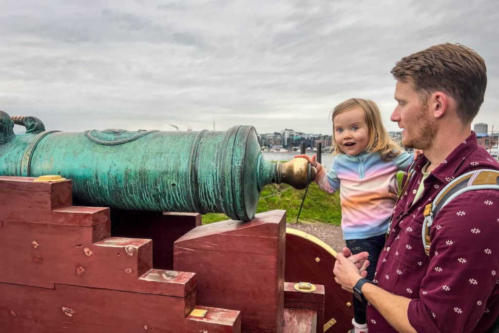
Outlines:
{"label": "green weathered cannon barrel with brass knob, without the red carriage", "polygon": [[[15,135],[14,123],[26,127]],[[61,175],[76,202],[128,210],[219,212],[249,221],[264,185],[303,189],[305,159],[263,159],[252,126],[225,132],[46,131],[36,117],[0,111],[0,175]]]}

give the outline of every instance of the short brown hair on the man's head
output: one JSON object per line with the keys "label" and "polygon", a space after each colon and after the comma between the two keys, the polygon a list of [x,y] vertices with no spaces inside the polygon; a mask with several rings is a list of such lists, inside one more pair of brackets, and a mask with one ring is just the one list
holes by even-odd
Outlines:
{"label": "short brown hair on the man's head", "polygon": [[460,44],[439,44],[403,57],[391,70],[395,79],[412,80],[424,99],[442,91],[457,102],[464,124],[471,123],[484,102],[487,68],[474,50]]}

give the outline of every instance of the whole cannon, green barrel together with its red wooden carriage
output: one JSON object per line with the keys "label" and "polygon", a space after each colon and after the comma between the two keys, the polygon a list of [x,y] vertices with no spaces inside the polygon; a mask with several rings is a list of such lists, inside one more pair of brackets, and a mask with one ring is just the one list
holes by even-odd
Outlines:
{"label": "whole cannon, green barrel together with its red wooden carriage", "polygon": [[[336,252],[284,210],[255,214],[265,184],[315,172],[264,161],[251,126],[64,133],[0,111],[0,327],[347,332]],[[202,225],[206,212],[233,220]]]}

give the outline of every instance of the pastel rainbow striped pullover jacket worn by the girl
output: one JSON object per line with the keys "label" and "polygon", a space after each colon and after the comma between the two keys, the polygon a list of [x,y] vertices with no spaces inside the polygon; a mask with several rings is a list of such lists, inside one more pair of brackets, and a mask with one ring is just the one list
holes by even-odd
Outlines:
{"label": "pastel rainbow striped pullover jacket worn by the girl", "polygon": [[338,154],[327,173],[319,170],[316,182],[324,191],[340,189],[343,239],[365,239],[386,234],[399,185],[397,171],[404,171],[414,154],[401,153],[385,162],[379,152],[357,156]]}

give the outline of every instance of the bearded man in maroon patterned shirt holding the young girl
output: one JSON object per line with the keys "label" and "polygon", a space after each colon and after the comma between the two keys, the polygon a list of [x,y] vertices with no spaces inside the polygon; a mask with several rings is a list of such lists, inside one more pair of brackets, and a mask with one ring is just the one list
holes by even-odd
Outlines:
{"label": "bearded man in maroon patterned shirt holding the young girl", "polygon": [[433,221],[429,255],[421,233],[425,206],[450,181],[499,170],[471,131],[484,101],[485,62],[447,43],[402,58],[391,72],[398,102],[391,120],[403,129],[404,146],[424,156],[394,209],[374,284],[361,280],[367,254],[347,248],[335,280],[368,302],[369,333],[486,332],[499,315],[499,191],[466,192],[445,206]]}

